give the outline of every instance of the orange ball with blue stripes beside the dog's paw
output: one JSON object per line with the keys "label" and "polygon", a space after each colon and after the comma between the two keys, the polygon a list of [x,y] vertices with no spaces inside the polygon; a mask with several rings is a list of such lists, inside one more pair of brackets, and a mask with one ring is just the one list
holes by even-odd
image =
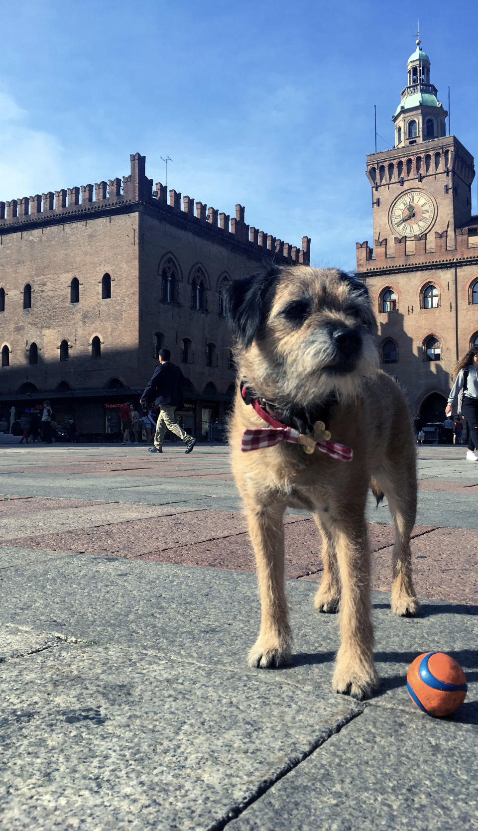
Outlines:
{"label": "orange ball with blue stripes beside the dog's paw", "polygon": [[424,652],[407,673],[411,701],[428,715],[451,715],[465,701],[467,689],[460,664],[445,652]]}

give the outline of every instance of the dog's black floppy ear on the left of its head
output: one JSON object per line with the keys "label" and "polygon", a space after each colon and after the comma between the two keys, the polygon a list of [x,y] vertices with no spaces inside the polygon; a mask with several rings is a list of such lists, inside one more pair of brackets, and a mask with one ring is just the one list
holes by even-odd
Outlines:
{"label": "dog's black floppy ear on the left of its head", "polygon": [[229,283],[225,296],[227,316],[244,347],[250,347],[264,326],[270,311],[270,289],[279,274],[277,265],[269,265],[264,271]]}

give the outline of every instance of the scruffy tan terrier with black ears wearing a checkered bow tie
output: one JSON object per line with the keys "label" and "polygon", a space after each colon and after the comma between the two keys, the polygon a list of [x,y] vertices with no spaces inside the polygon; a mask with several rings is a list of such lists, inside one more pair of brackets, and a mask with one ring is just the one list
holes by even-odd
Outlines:
{"label": "scruffy tan terrier with black ears wearing a checkered bow tie", "polygon": [[306,509],[323,539],[318,612],[339,612],[333,689],[378,686],[365,509],[385,494],[395,525],[392,611],[413,616],[416,449],[407,401],[378,368],[366,286],[333,269],[278,267],[230,283],[239,385],[229,419],[234,478],[257,564],[261,624],[249,666],[291,656],[283,514]]}

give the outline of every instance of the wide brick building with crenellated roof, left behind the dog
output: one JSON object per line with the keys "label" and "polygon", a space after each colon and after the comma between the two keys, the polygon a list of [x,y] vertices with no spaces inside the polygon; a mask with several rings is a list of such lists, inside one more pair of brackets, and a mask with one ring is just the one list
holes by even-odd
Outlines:
{"label": "wide brick building with crenellated roof, left behind the dog", "polygon": [[0,410],[52,402],[85,435],[119,437],[117,407],[167,347],[187,379],[185,429],[207,435],[232,396],[224,286],[295,248],[189,196],[131,174],[0,202]]}

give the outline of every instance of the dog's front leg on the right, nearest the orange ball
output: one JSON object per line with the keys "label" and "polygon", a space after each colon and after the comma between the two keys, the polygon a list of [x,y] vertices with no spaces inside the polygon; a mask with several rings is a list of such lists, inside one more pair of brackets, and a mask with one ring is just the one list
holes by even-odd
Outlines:
{"label": "dog's front leg on the right, nearest the orange ball", "polygon": [[355,698],[367,698],[377,686],[373,663],[370,607],[370,548],[367,525],[351,514],[335,525],[342,594],[339,619],[341,645],[333,673],[333,688]]}

